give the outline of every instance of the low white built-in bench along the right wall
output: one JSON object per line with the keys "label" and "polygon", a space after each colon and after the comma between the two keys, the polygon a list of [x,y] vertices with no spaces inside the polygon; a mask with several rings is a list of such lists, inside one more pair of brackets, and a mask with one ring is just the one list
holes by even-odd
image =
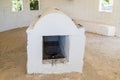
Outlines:
{"label": "low white built-in bench along the right wall", "polygon": [[79,20],[78,23],[84,26],[87,32],[93,32],[106,36],[115,36],[116,26],[85,20]]}

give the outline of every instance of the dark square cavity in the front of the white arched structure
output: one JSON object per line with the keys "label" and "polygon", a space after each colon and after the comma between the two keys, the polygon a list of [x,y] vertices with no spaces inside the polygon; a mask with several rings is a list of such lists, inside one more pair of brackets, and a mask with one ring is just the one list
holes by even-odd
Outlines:
{"label": "dark square cavity in the front of the white arched structure", "polygon": [[65,58],[65,36],[43,36],[43,60]]}

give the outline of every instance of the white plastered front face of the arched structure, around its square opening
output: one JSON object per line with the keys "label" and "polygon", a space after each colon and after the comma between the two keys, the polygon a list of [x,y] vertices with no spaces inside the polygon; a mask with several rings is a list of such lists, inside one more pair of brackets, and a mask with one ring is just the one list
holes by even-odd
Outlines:
{"label": "white plastered front face of the arched structure, around its square opening", "polygon": [[[82,72],[85,35],[84,28],[77,28],[74,22],[59,11],[53,11],[41,18],[33,27],[27,29],[27,72],[31,73],[64,73]],[[42,37],[53,35],[69,36],[68,62],[43,64]]]}

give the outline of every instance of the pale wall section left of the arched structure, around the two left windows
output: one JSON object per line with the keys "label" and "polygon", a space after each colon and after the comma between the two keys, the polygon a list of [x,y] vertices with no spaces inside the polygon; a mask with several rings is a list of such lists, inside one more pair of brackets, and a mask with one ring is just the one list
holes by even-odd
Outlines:
{"label": "pale wall section left of the arched structure, around the two left windows", "polygon": [[23,11],[20,12],[12,12],[12,0],[0,0],[0,32],[28,26],[38,14],[40,10],[30,11],[29,0],[23,0]]}

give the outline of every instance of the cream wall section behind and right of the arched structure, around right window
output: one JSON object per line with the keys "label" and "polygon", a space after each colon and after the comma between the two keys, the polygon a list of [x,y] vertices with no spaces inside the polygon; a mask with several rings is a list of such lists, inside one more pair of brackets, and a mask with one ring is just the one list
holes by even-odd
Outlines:
{"label": "cream wall section behind and right of the arched structure, around right window", "polygon": [[114,0],[113,12],[99,12],[99,0],[41,0],[41,10],[57,7],[71,18],[116,26],[120,35],[120,0]]}

